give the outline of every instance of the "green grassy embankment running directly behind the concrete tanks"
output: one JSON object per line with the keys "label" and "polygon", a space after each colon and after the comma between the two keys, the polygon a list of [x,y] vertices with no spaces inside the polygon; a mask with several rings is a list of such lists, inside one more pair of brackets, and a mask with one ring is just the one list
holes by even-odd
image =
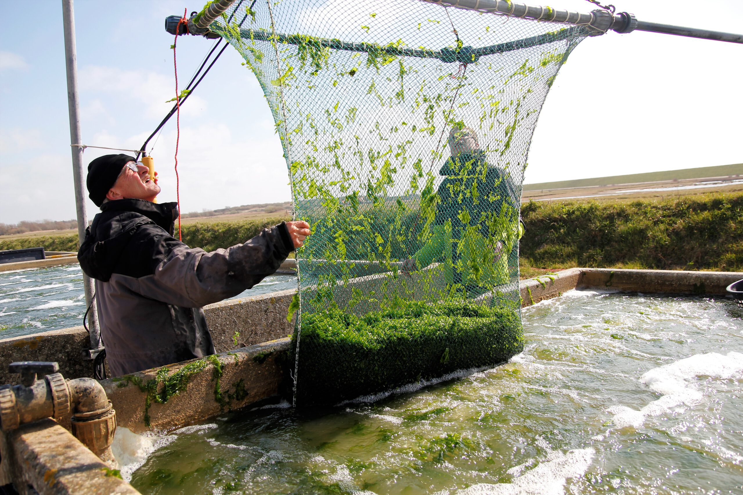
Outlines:
{"label": "green grassy embankment running directly behind the concrete tanks", "polygon": [[[743,271],[743,194],[695,194],[665,200],[568,200],[522,206],[522,275],[545,269],[607,268]],[[196,222],[184,242],[228,247],[283,220]],[[45,246],[77,251],[77,235],[0,239],[0,249]]]}

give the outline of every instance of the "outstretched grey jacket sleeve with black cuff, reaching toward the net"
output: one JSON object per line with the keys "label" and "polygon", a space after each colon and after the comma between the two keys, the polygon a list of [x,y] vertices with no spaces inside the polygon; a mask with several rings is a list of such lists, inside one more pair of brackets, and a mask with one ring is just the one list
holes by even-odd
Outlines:
{"label": "outstretched grey jacket sleeve with black cuff, reaching toward the net", "polygon": [[184,307],[200,307],[232,298],[279,269],[293,243],[285,223],[264,229],[244,244],[206,252],[167,235],[167,257],[152,275],[127,278],[129,289],[146,298]]}

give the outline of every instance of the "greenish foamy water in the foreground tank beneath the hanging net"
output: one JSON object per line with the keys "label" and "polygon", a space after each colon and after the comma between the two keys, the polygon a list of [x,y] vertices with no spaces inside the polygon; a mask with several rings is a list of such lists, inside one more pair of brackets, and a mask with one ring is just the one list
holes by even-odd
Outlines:
{"label": "greenish foamy water in the foreground tank beneath the hanging net", "polygon": [[373,404],[160,439],[143,494],[741,494],[743,309],[571,291],[509,364]]}

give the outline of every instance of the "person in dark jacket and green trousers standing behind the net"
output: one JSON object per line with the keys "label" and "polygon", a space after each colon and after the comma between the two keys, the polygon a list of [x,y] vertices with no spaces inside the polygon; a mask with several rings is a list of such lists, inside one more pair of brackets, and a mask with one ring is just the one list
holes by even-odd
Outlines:
{"label": "person in dark jacket and green trousers standing behind the net", "polygon": [[487,162],[473,129],[452,128],[448,143],[430,237],[402,268],[443,263],[448,289],[473,297],[510,281],[508,255],[520,237],[518,190],[506,169]]}

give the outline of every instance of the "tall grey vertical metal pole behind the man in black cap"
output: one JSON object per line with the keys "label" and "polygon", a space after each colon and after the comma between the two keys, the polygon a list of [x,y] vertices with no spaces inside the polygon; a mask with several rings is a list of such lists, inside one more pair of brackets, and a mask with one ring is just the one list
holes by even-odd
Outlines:
{"label": "tall grey vertical metal pole behind the man in black cap", "polygon": [[[75,47],[75,12],[73,0],[62,0],[62,19],[65,26],[65,65],[67,67],[67,103],[70,113],[70,140],[72,145],[81,145],[80,135],[80,101],[77,98],[77,49]],[[85,212],[85,188],[82,182],[82,147],[72,148],[72,177],[75,183],[75,206],[77,209],[77,235],[80,243],[85,238],[88,226],[88,214]],[[88,275],[82,274],[85,287],[85,306],[90,306],[95,294],[95,286]],[[100,347],[100,327],[96,306],[88,313],[88,328],[91,333],[91,350]],[[92,357],[89,355],[88,357]]]}

